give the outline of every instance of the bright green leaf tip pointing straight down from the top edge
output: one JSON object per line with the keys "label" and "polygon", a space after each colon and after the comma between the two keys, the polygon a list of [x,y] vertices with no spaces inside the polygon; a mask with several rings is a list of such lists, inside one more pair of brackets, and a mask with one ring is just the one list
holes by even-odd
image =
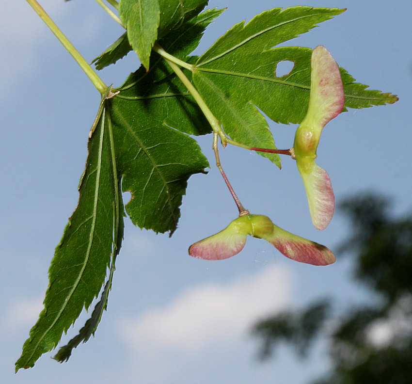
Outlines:
{"label": "bright green leaf tip pointing straight down from the top edge", "polygon": [[150,53],[158,38],[160,23],[158,0],[120,0],[118,10],[130,45],[143,66],[149,69]]}

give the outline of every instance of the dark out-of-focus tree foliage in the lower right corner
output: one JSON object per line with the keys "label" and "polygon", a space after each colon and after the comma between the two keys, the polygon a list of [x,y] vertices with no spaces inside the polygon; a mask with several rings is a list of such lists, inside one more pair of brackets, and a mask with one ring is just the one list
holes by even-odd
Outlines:
{"label": "dark out-of-focus tree foliage in the lower right corner", "polygon": [[305,356],[320,335],[331,340],[332,369],[312,384],[412,383],[412,216],[392,218],[390,203],[375,194],[351,197],[341,205],[351,234],[341,252],[354,256],[355,278],[376,295],[367,305],[333,315],[331,299],[303,310],[259,320],[259,356],[288,342]]}

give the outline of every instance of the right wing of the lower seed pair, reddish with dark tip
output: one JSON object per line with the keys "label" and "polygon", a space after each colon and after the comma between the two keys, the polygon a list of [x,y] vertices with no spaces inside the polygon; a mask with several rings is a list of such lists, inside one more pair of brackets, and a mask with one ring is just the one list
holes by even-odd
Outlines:
{"label": "right wing of the lower seed pair, reddish with dark tip", "polygon": [[329,265],[335,262],[332,251],[324,245],[306,240],[274,225],[268,240],[279,252],[292,260],[312,265]]}

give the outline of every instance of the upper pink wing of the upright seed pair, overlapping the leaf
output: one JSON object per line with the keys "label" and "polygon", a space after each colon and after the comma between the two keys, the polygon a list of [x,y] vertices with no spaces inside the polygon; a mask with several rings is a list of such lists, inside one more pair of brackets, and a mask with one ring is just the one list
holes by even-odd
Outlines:
{"label": "upper pink wing of the upright seed pair, overlapping the leaf", "polygon": [[320,130],[343,108],[345,94],[339,67],[330,52],[317,46],[311,59],[311,89],[305,120]]}

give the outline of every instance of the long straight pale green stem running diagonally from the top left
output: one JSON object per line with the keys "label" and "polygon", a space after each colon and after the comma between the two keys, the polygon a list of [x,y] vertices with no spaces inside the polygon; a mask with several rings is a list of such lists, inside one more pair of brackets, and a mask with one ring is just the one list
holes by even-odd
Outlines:
{"label": "long straight pale green stem running diagonally from the top left", "polygon": [[87,77],[92,81],[97,90],[104,94],[108,89],[108,86],[101,80],[92,67],[87,63],[87,61],[80,55],[79,51],[74,48],[73,44],[64,36],[63,32],[60,31],[59,27],[54,23],[54,21],[48,16],[46,11],[40,6],[36,0],[26,0],[40,16],[40,18],[45,22],[45,24],[50,28],[51,32],[59,39],[63,47],[73,56],[77,64],[80,65],[80,68],[84,71]]}

